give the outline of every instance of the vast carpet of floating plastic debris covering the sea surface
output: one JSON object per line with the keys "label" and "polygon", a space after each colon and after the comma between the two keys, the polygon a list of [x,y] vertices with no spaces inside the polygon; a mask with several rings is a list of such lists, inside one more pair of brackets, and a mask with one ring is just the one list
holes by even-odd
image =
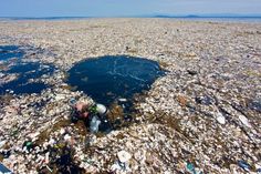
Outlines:
{"label": "vast carpet of floating plastic debris covering the sea surface", "polygon": [[[31,45],[30,40],[24,40],[23,42],[22,38],[19,37],[20,32],[24,30],[24,34],[33,38],[33,45],[40,49],[40,52],[34,49],[27,51],[27,59],[21,62],[39,61],[41,64],[50,62],[56,69],[54,73],[45,71],[44,75],[41,73],[41,76],[31,76],[35,82],[44,82],[44,84],[49,85],[41,94],[10,94],[12,90],[15,93],[17,89],[11,88],[8,92],[3,89],[4,95],[1,95],[0,102],[0,142],[7,141],[7,143],[0,150],[0,158],[2,160],[11,152],[8,158],[3,158],[4,165],[12,166],[11,168],[15,170],[13,171],[15,173],[50,173],[51,171],[49,172],[45,165],[49,165],[55,172],[58,171],[56,168],[69,168],[71,166],[69,163],[71,162],[76,162],[77,165],[81,165],[80,167],[83,167],[86,171],[85,173],[109,172],[113,164],[125,171],[126,163],[121,163],[117,157],[117,152],[125,150],[133,155],[129,160],[132,173],[164,173],[169,171],[169,173],[189,173],[186,171],[187,162],[195,165],[196,172],[198,172],[200,166],[202,167],[201,170],[208,173],[233,173],[233,171],[234,173],[248,173],[238,165],[238,160],[247,160],[244,158],[246,156],[251,161],[251,163],[246,161],[251,164],[250,171],[252,173],[260,171],[261,167],[255,166],[259,161],[259,153],[257,153],[257,146],[253,145],[259,144],[258,135],[260,134],[259,124],[254,124],[260,111],[260,102],[257,102],[257,100],[261,96],[259,92],[260,82],[258,81],[260,70],[257,69],[260,49],[255,47],[259,45],[261,39],[260,24],[234,23],[227,25],[210,22],[192,22],[191,24],[190,22],[178,22],[177,24],[177,22],[167,21],[165,23],[164,21],[154,21],[154,19],[152,22],[150,19],[148,20],[148,22],[129,19],[121,19],[115,22],[92,21],[87,22],[90,25],[87,28],[88,31],[86,31],[85,21],[73,23],[67,21],[64,23],[58,22],[55,23],[58,27],[53,24],[50,29],[41,24],[41,22],[36,22],[36,27],[43,25],[44,31],[46,29],[43,34],[30,32],[35,28],[35,22],[29,22],[25,27],[15,22],[9,23],[8,21],[1,24],[3,32],[0,38],[3,38],[4,43],[12,43],[15,40],[17,43],[24,44],[22,47]],[[173,40],[178,28],[179,30],[181,28],[184,32],[178,35],[178,39]],[[65,37],[61,35],[67,29],[76,32],[67,32],[70,35],[66,34]],[[202,32],[205,29],[210,29],[211,32]],[[114,34],[115,31],[117,31],[117,34]],[[152,33],[145,33],[144,31],[152,31]],[[165,31],[168,34],[163,35],[161,33]],[[94,37],[90,37],[86,32],[92,33]],[[105,33],[105,38],[96,37],[101,32]],[[212,35],[217,33],[219,37],[215,38],[216,41],[213,41]],[[83,140],[95,134],[86,132],[84,123],[90,130],[93,115],[97,115],[101,120],[98,132],[102,132],[103,122],[105,121],[97,113],[90,113],[88,117],[79,124],[71,124],[67,121],[71,116],[70,109],[72,106],[69,103],[71,99],[73,99],[73,105],[81,101],[92,103],[90,96],[93,98],[94,95],[88,93],[90,90],[87,88],[85,88],[86,93],[81,92],[79,86],[83,82],[70,85],[66,70],[85,59],[86,54],[90,57],[92,57],[91,54],[103,55],[106,52],[108,54],[118,52],[128,54],[122,48],[128,45],[132,50],[133,48],[136,49],[136,47],[133,45],[133,37],[125,37],[126,34],[136,35],[135,42],[137,40],[137,52],[130,54],[144,55],[148,57],[145,59],[158,61],[161,68],[168,72],[166,76],[158,79],[152,88],[146,85],[149,89],[148,92],[135,95],[133,100],[128,99],[127,95],[113,93],[114,91],[103,95],[102,100],[96,100],[106,106],[111,106],[108,104],[111,101],[107,100],[107,96],[109,96],[115,102],[115,105],[118,104],[121,106],[124,104],[126,109],[118,108],[119,110],[109,113],[107,122],[112,124],[114,131],[106,136],[100,137],[97,135],[95,143],[93,143],[93,139],[86,141],[86,146],[91,145],[91,149],[87,150]],[[238,34],[240,37],[237,37]],[[82,39],[77,39],[77,37],[82,37]],[[50,38],[59,38],[59,40]],[[163,41],[157,42],[158,38],[161,38]],[[234,42],[230,42],[231,44],[227,47],[226,41],[231,39]],[[71,40],[75,42],[71,43]],[[184,47],[182,42],[180,42],[188,40],[191,47]],[[198,42],[199,40],[200,42]],[[251,44],[244,44],[246,41]],[[211,44],[212,42],[217,44]],[[85,43],[92,43],[90,49],[84,47]],[[103,44],[101,45],[101,43]],[[122,45],[118,47],[117,43]],[[160,43],[156,51],[153,43]],[[174,44],[177,49],[171,49]],[[208,51],[202,49],[206,45]],[[31,55],[32,53],[34,55]],[[184,58],[182,61],[178,59],[179,57]],[[247,57],[249,59],[246,59]],[[25,74],[8,72],[12,70],[11,65],[15,65],[14,60],[10,60],[10,63],[7,62],[8,65],[6,63],[0,64],[0,73],[3,74],[0,78],[0,85],[6,84],[8,81],[12,83],[15,79],[20,79]],[[243,69],[241,69],[242,66]],[[85,68],[83,69],[88,71]],[[126,71],[124,68],[115,68],[115,70]],[[189,75],[186,70],[197,70],[198,74]],[[75,73],[79,72],[81,71]],[[34,71],[29,74],[34,75],[36,73]],[[194,74],[194,72],[189,73]],[[84,78],[82,74],[79,75]],[[128,80],[132,76],[123,78]],[[104,85],[105,89],[107,88],[106,84]],[[136,88],[136,84],[133,85]],[[84,88],[84,85],[82,86]],[[119,86],[122,88],[123,85]],[[22,90],[28,90],[28,88]],[[93,88],[93,90],[98,92],[96,91],[98,86]],[[122,90],[130,91],[127,85]],[[112,90],[108,89],[108,91]],[[55,96],[60,94],[65,94],[66,99],[56,101]],[[178,94],[186,99],[184,106],[180,106],[179,101],[176,100]],[[202,101],[199,99],[199,103],[195,101],[196,96],[206,95],[211,99],[211,102],[208,102],[208,99]],[[122,103],[118,101],[118,96],[127,98],[128,101]],[[135,105],[132,105],[133,102],[135,102]],[[137,114],[135,110],[137,110]],[[126,123],[128,119],[125,119],[125,115],[128,114],[128,111],[134,112],[134,124]],[[223,120],[217,121],[218,111],[225,116],[226,126],[219,123]],[[244,115],[244,113],[251,114],[251,116]],[[253,129],[249,130],[239,120],[240,114],[248,119]],[[121,125],[124,129],[117,130],[114,126],[117,117],[119,117]],[[82,117],[79,116],[77,119]],[[86,123],[85,121],[88,122]],[[211,121],[216,122],[216,124],[211,124]],[[61,134],[61,127],[65,129],[66,132]],[[177,129],[181,131],[177,131]],[[28,141],[24,139],[38,131],[41,135],[38,136],[39,141],[33,143],[33,150],[30,153],[23,153],[21,150],[22,143]],[[74,145],[70,145],[70,143],[64,141],[65,134],[72,136],[71,142],[75,142]],[[53,140],[50,141],[51,139],[55,140],[56,143],[53,144]],[[33,141],[32,137],[30,141]],[[239,154],[240,145],[243,145],[243,154]],[[73,161],[67,160],[69,157],[61,157],[64,153],[64,146],[72,147]],[[227,150],[226,147],[229,149]],[[50,152],[50,164],[44,164],[46,152]],[[3,153],[7,155],[3,156]],[[234,154],[242,157],[237,158],[236,164],[230,164],[231,157],[232,161],[237,157]],[[82,156],[93,161],[93,165],[90,162],[84,162]],[[109,162],[113,158],[115,161]],[[169,167],[169,163],[166,162],[167,158],[170,161],[176,160],[178,164],[175,162],[175,167]],[[59,167],[55,167],[53,162],[61,161],[69,163],[65,165],[62,163],[59,164]],[[229,166],[226,165],[228,163],[230,164]],[[41,166],[41,171],[38,171]]]}

